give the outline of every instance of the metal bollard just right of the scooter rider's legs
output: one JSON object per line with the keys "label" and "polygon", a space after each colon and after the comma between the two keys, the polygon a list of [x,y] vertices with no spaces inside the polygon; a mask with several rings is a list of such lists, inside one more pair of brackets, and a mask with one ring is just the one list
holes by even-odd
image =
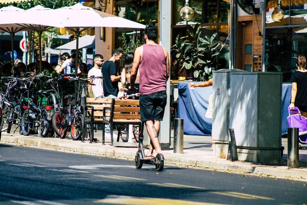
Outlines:
{"label": "metal bollard just right of the scooter rider's legs", "polygon": [[174,119],[174,153],[183,154],[183,119]]}

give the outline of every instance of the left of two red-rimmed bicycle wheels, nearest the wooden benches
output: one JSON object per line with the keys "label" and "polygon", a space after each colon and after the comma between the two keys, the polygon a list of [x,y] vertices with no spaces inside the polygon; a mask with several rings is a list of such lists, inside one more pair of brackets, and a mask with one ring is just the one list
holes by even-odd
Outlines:
{"label": "left of two red-rimmed bicycle wheels, nearest the wooden benches", "polygon": [[52,116],[52,127],[57,136],[65,138],[68,130],[68,114],[58,111]]}

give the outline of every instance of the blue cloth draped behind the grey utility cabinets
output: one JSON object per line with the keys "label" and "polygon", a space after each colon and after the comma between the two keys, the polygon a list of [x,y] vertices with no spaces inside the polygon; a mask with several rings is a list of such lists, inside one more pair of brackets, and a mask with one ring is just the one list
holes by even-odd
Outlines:
{"label": "blue cloth draped behind the grey utility cabinets", "polygon": [[[184,134],[211,135],[212,119],[206,118],[208,99],[212,87],[190,89],[189,81],[178,83],[178,117],[184,119]],[[199,82],[193,82],[199,83]],[[282,85],[281,134],[288,132],[288,106],[291,99],[291,84]]]}

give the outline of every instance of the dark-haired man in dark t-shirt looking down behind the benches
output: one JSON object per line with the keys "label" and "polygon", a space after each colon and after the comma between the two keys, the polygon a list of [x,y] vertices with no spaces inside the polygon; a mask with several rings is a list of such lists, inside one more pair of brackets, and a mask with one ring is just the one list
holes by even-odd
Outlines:
{"label": "dark-haired man in dark t-shirt looking down behind the benches", "polygon": [[115,49],[112,52],[112,57],[102,65],[103,76],[103,93],[104,98],[117,98],[118,80],[121,78],[117,75],[117,62],[123,57],[123,51]]}

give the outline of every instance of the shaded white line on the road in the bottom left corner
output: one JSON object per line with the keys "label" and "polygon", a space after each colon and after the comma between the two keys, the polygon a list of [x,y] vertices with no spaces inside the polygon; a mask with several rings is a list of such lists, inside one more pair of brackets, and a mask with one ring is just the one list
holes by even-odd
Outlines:
{"label": "shaded white line on the road in the bottom left corner", "polygon": [[5,196],[5,197],[9,197],[9,198],[15,198],[15,199],[21,199],[24,201],[17,201],[17,200],[11,200],[15,203],[21,203],[21,204],[50,204],[50,205],[68,205],[66,203],[58,203],[55,201],[47,201],[47,200],[39,200],[36,198],[30,198],[30,197],[25,197],[25,196],[19,196],[19,195],[15,195],[15,194],[8,194],[8,193],[4,193],[4,192],[0,192],[0,196]]}

